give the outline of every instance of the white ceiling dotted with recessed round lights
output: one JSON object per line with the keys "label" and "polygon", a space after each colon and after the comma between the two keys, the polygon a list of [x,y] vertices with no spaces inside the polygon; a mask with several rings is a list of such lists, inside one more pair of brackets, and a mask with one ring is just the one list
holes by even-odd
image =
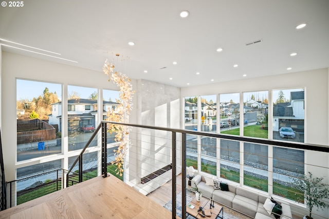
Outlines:
{"label": "white ceiling dotted with recessed round lights", "polygon": [[[181,18],[182,10],[190,16]],[[297,30],[301,23],[307,26]],[[2,46],[5,51],[100,73],[105,59],[114,58],[131,78],[187,87],[329,67],[329,1],[29,0],[0,7],[0,38],[78,63]]]}

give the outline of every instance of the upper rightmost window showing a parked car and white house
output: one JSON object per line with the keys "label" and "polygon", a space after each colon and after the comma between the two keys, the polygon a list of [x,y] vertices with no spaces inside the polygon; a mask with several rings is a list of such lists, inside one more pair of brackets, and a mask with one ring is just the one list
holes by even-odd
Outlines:
{"label": "upper rightmost window showing a parked car and white house", "polygon": [[273,139],[304,142],[304,89],[273,91]]}

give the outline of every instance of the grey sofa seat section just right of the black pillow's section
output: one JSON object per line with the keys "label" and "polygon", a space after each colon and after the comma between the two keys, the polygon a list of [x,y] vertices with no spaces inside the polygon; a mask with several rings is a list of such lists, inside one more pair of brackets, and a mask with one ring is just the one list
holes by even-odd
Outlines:
{"label": "grey sofa seat section just right of the black pillow's section", "polygon": [[[236,188],[236,191],[237,190],[238,188]],[[232,201],[232,208],[250,217],[255,217],[258,208],[258,201],[236,194]]]}

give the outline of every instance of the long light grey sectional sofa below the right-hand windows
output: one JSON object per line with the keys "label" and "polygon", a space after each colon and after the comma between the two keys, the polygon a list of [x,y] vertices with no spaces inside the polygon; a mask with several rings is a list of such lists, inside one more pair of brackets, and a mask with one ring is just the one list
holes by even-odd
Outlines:
{"label": "long light grey sectional sofa below the right-hand windows", "polygon": [[[197,185],[198,189],[202,191],[202,195],[211,198],[217,203],[225,205],[229,208],[232,208],[236,211],[239,211],[243,214],[246,214],[255,219],[276,219],[275,215],[270,211],[267,211],[264,206],[267,208],[268,205],[272,206],[270,197],[267,197],[261,193],[255,193],[248,191],[245,188],[240,186],[235,186],[227,184],[224,191],[222,189],[214,189],[212,179],[205,177],[203,175],[196,175],[192,181],[191,186],[194,187]],[[267,203],[264,205],[264,203]],[[291,219],[291,209],[289,203],[278,203],[281,206],[282,213],[281,215],[276,215],[280,219]],[[268,209],[269,210],[269,209]],[[274,210],[273,210],[274,211]]]}

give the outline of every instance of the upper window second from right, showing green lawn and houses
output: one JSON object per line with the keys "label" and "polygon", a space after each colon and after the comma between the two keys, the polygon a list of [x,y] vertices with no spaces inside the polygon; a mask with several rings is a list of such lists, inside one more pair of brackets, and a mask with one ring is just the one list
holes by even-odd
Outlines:
{"label": "upper window second from right, showing green lawn and houses", "polygon": [[268,91],[243,93],[243,135],[268,138]]}

